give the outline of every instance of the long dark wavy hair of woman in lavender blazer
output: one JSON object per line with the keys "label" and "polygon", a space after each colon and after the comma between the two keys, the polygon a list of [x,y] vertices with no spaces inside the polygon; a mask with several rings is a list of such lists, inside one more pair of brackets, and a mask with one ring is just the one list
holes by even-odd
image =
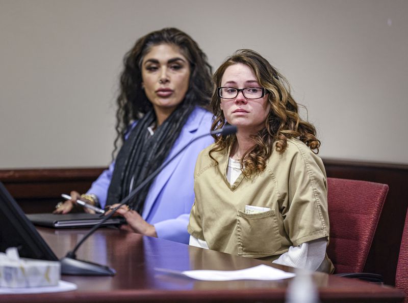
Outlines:
{"label": "long dark wavy hair of woman in lavender blazer", "polygon": [[124,68],[120,76],[120,93],[116,100],[118,106],[115,125],[117,136],[112,157],[115,156],[119,145],[123,144],[129,125],[152,108],[141,86],[141,64],[143,57],[151,47],[159,44],[177,46],[190,64],[189,88],[183,105],[194,104],[207,108],[210,103],[213,89],[212,69],[207,55],[189,35],[177,28],[163,28],[141,37],[123,58]]}

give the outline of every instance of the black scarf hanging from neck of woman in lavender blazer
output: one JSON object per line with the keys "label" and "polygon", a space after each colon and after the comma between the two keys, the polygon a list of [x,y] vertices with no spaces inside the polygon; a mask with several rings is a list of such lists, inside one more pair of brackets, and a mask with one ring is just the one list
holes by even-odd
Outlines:
{"label": "black scarf hanging from neck of woman in lavender blazer", "polygon": [[[193,105],[180,104],[153,135],[147,128],[155,123],[154,110],[147,112],[124,141],[115,161],[107,205],[119,203],[166,159],[174,141],[193,111]],[[132,200],[130,207],[142,214],[150,181]]]}

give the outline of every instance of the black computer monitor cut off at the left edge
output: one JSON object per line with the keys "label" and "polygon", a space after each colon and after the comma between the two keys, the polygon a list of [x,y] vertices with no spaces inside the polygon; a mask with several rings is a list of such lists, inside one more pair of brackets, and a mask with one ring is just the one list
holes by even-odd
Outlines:
{"label": "black computer monitor cut off at the left edge", "polygon": [[17,202],[0,182],[0,251],[16,247],[20,257],[58,261]]}

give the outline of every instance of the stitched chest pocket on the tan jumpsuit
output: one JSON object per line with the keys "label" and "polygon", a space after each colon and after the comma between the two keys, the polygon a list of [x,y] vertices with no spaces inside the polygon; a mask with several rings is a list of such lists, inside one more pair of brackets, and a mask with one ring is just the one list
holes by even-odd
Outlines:
{"label": "stitched chest pocket on the tan jumpsuit", "polygon": [[274,209],[258,214],[237,213],[238,255],[261,258],[281,248],[278,220]]}

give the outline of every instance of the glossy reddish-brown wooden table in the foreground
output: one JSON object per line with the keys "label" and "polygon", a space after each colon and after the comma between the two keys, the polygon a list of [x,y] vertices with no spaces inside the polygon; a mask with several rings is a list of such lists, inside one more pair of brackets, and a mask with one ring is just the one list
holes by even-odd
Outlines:
{"label": "glossy reddish-brown wooden table in the foreground", "polygon": [[[86,229],[38,228],[61,258],[86,233]],[[284,302],[288,283],[281,281],[197,281],[162,274],[156,267],[175,270],[236,270],[268,264],[163,239],[103,228],[85,241],[78,258],[113,267],[114,277],[63,276],[78,285],[71,292],[0,295],[2,302]],[[269,263],[269,265],[271,265]],[[291,268],[272,265],[290,271]],[[395,288],[315,273],[313,279],[322,302],[402,302]]]}

